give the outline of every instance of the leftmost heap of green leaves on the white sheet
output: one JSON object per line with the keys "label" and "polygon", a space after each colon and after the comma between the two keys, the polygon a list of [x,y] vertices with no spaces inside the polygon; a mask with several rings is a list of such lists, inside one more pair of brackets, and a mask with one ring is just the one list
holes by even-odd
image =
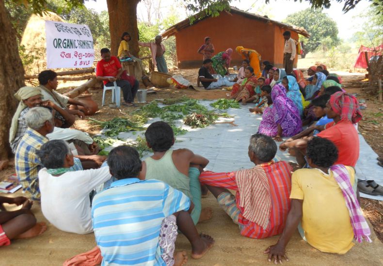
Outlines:
{"label": "leftmost heap of green leaves on the white sheet", "polygon": [[92,123],[101,126],[104,129],[107,129],[104,135],[109,137],[117,136],[120,132],[145,130],[139,124],[122,117],[114,117],[112,120],[109,121],[100,121],[94,118],[89,119],[92,121]]}

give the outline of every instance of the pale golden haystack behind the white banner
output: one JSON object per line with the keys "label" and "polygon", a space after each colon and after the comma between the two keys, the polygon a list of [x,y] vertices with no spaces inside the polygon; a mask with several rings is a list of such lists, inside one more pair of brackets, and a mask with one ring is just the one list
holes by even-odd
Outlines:
{"label": "pale golden haystack behind the white banner", "polygon": [[[21,39],[21,45],[25,47],[24,61],[28,61],[24,66],[27,75],[38,74],[47,68],[46,20],[64,22],[64,19],[53,12],[48,12],[42,17],[38,15],[31,16]],[[21,52],[20,55],[23,56]]]}

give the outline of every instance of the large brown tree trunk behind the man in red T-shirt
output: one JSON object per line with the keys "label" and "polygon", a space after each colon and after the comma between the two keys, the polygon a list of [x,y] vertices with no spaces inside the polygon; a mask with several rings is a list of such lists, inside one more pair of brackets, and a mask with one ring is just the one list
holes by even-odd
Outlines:
{"label": "large brown tree trunk behind the man in red T-shirt", "polygon": [[107,0],[111,52],[117,55],[122,33],[130,33],[129,52],[138,56],[137,4],[140,0]]}

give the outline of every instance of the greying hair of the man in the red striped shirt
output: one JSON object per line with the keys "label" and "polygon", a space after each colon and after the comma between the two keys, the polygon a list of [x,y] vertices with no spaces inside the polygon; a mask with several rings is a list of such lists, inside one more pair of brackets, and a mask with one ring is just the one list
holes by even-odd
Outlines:
{"label": "greying hair of the man in the red striped shirt", "polygon": [[275,141],[270,136],[261,133],[250,137],[249,148],[261,162],[270,162],[277,153]]}

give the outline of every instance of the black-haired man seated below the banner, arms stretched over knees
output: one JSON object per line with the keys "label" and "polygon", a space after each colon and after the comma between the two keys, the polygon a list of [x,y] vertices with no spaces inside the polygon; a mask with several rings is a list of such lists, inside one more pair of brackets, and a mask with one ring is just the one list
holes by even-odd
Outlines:
{"label": "black-haired man seated below the banner, arms stretched over knees", "polygon": [[[38,80],[43,101],[49,100],[53,104],[50,104],[53,109],[55,109],[55,125],[59,128],[68,128],[75,122],[75,117],[79,116],[84,117],[82,111],[87,111],[87,106],[75,99],[69,98],[61,93],[56,92],[58,81],[57,73],[52,70],[41,71]],[[71,104],[70,108],[67,108],[67,104]],[[59,108],[59,109],[58,109]],[[62,110],[60,110],[62,109]]]}

